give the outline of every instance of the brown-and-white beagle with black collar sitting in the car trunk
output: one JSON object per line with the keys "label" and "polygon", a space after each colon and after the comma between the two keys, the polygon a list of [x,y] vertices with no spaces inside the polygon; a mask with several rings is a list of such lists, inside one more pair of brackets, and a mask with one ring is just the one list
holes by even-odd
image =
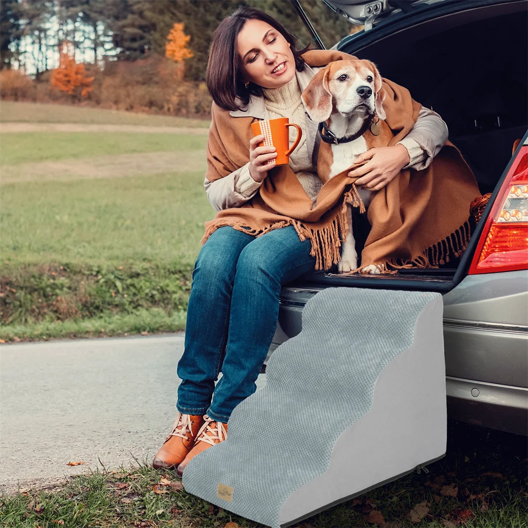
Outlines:
{"label": "brown-and-white beagle with black collar sitting in the car trunk", "polygon": [[[352,169],[354,159],[370,148],[386,146],[392,135],[383,110],[385,92],[375,64],[367,60],[342,60],[319,70],[303,91],[308,116],[319,123],[322,142],[319,147],[317,172],[322,182]],[[373,191],[358,188],[367,208]],[[375,192],[375,191],[374,191]],[[340,273],[357,269],[357,252],[352,233],[352,205],[347,208],[348,233],[344,237]],[[344,238],[344,240],[343,240]],[[364,270],[379,274],[375,265]]]}

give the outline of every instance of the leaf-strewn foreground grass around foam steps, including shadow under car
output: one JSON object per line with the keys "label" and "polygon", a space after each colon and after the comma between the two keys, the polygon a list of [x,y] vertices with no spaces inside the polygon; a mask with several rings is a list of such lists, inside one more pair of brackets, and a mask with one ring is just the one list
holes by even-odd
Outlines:
{"label": "leaf-strewn foreground grass around foam steps, including shadow under car", "polygon": [[[6,528],[51,528],[57,521],[65,528],[263,526],[187,493],[174,471],[155,470],[150,460],[136,462],[69,477],[53,492],[4,495],[0,523]],[[376,516],[383,528],[528,527],[526,437],[449,420],[447,455],[428,472],[399,478],[292,528],[380,526],[373,522]],[[412,510],[421,518],[411,520]]]}

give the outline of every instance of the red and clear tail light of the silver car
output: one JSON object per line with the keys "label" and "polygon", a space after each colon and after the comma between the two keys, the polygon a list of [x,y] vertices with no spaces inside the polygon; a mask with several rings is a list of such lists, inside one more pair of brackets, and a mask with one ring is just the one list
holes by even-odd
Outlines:
{"label": "red and clear tail light of the silver car", "polygon": [[528,146],[521,148],[497,194],[469,274],[528,269]]}

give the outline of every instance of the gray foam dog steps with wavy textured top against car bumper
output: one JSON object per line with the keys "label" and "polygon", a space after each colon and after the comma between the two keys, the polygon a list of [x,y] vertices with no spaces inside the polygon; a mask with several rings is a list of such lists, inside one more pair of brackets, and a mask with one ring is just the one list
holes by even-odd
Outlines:
{"label": "gray foam dog steps with wavy textured top against car bumper", "polygon": [[437,293],[320,291],[185,490],[279,528],[444,456],[442,308]]}

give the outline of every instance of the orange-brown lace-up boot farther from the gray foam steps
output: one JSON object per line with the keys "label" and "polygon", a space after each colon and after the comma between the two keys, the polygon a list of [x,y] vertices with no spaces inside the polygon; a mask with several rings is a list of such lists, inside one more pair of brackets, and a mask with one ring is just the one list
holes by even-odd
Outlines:
{"label": "orange-brown lace-up boot farther from the gray foam steps", "polygon": [[182,462],[194,446],[198,432],[203,426],[202,414],[178,412],[172,431],[152,461],[154,469],[174,468]]}

